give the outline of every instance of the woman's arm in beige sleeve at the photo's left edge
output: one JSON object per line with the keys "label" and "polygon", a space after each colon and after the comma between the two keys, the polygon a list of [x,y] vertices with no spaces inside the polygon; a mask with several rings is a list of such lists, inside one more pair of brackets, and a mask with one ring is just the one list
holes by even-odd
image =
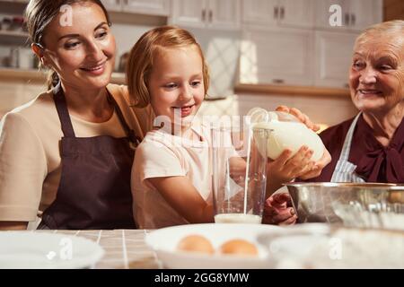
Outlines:
{"label": "woman's arm in beige sleeve at the photo's left edge", "polygon": [[30,120],[20,113],[0,122],[0,155],[1,228],[26,228],[37,217],[47,160]]}

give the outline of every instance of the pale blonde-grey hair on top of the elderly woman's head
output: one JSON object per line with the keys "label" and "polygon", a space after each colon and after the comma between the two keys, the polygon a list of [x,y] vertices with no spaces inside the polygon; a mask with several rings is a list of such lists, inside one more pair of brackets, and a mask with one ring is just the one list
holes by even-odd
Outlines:
{"label": "pale blonde-grey hair on top of the elderly woman's head", "polygon": [[396,36],[398,39],[404,40],[404,20],[393,20],[381,22],[365,29],[357,38],[355,46],[359,42],[369,39],[375,39],[376,36]]}

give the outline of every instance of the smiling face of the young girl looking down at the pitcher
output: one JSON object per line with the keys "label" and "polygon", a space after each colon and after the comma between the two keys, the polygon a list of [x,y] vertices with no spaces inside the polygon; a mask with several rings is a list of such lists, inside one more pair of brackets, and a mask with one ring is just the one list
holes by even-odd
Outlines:
{"label": "smiling face of the young girl looking down at the pitcher", "polygon": [[188,126],[205,97],[198,48],[157,48],[147,86],[156,116],[169,117],[171,126]]}

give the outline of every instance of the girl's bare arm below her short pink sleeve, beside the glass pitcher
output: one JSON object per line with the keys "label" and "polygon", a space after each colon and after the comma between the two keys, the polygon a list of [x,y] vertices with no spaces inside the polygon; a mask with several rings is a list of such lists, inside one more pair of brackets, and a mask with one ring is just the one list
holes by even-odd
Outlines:
{"label": "girl's bare arm below her short pink sleeve, beside the glass pitcher", "polygon": [[147,178],[162,197],[190,223],[214,222],[213,205],[207,204],[189,178]]}

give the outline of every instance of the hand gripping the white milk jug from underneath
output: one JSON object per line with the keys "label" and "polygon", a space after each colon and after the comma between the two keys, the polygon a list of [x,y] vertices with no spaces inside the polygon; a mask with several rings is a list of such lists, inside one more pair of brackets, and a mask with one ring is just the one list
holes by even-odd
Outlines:
{"label": "hand gripping the white milk jug from underneath", "polygon": [[272,194],[282,184],[294,178],[311,175],[316,162],[312,161],[312,151],[303,145],[298,152],[292,156],[292,151],[285,150],[277,160],[268,162],[268,194]]}

